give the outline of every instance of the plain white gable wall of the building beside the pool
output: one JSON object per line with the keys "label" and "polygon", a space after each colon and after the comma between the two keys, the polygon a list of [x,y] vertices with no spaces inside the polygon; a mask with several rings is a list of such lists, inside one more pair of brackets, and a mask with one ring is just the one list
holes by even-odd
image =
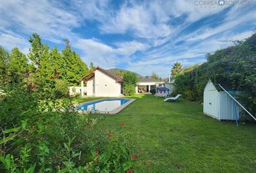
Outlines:
{"label": "plain white gable wall of the building beside the pool", "polygon": [[111,76],[97,70],[95,71],[95,96],[119,97],[121,96],[121,84]]}

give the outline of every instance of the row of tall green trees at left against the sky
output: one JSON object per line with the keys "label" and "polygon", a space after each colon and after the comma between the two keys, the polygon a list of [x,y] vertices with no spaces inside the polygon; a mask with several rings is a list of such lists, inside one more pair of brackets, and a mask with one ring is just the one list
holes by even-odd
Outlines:
{"label": "row of tall green trees at left against the sky", "polygon": [[47,44],[42,43],[36,33],[29,38],[29,42],[31,48],[27,56],[18,48],[13,48],[12,52],[8,53],[0,47],[1,78],[17,81],[24,73],[34,76],[39,76],[40,73],[41,78],[49,79],[58,74],[59,80],[69,85],[77,85],[80,78],[88,74],[88,66],[79,54],[72,50],[69,40],[64,39],[66,46],[61,52],[56,47],[50,49]]}

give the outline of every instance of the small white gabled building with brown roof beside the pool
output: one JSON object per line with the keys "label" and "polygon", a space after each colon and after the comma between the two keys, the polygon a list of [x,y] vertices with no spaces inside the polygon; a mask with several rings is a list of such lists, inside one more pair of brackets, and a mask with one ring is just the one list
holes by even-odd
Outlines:
{"label": "small white gabled building with brown roof beside the pool", "polygon": [[[95,97],[120,97],[123,79],[103,68],[97,67],[90,74],[82,78],[81,87],[87,84],[87,95]],[[82,91],[82,96],[84,96]]]}

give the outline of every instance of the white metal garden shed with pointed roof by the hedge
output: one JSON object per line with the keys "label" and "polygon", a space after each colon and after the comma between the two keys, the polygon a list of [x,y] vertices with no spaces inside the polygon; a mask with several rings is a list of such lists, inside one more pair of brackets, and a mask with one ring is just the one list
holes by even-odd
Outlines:
{"label": "white metal garden shed with pointed roof by the hedge", "polygon": [[226,90],[208,81],[203,93],[203,112],[218,120],[239,120],[239,106]]}

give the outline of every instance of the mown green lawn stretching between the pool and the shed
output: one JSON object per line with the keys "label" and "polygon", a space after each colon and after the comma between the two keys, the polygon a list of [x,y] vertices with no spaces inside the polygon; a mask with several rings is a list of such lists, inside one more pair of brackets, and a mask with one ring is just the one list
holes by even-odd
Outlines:
{"label": "mown green lawn stretching between the pool and the shed", "polygon": [[[204,115],[202,105],[184,99],[135,98],[119,114],[106,115],[103,123],[132,135],[140,161],[150,164],[145,172],[256,172],[255,124],[220,122]],[[98,98],[77,102],[92,99]]]}

